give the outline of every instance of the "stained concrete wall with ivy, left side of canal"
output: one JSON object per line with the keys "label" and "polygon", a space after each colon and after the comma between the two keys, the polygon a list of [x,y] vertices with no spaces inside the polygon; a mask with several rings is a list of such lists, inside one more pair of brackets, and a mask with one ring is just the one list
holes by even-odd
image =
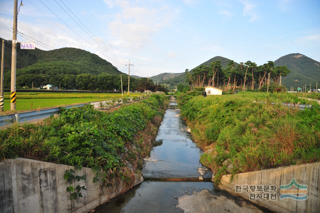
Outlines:
{"label": "stained concrete wall with ivy, left side of canal", "polygon": [[[107,187],[101,182],[93,183],[95,173],[82,168],[75,170],[75,175],[84,175],[86,179],[73,181],[72,185],[74,188],[85,186],[87,190],[81,190],[83,198],[72,203],[66,192],[69,184],[63,178],[69,169],[74,170],[72,166],[23,158],[1,162],[0,213],[86,213],[128,189],[126,182],[120,179]],[[133,186],[142,181],[141,175],[135,175]]]}

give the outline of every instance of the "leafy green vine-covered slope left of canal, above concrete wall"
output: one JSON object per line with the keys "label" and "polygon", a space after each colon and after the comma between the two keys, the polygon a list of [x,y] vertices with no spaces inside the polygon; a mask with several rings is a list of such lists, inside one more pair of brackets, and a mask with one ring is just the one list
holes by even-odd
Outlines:
{"label": "leafy green vine-covered slope left of canal, above concrete wall", "polygon": [[152,148],[166,102],[165,96],[153,95],[112,112],[86,105],[64,109],[42,124],[14,125],[0,130],[0,159],[89,167],[106,183],[121,177],[130,186]]}

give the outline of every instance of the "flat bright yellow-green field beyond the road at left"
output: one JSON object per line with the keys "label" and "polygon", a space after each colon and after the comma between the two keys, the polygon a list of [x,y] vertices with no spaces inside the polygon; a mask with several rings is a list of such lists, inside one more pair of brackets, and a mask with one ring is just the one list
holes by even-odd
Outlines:
{"label": "flat bright yellow-green field beyond the road at left", "polygon": [[[123,98],[140,96],[140,93],[123,94]],[[120,93],[47,93],[47,92],[17,92],[16,110],[31,110],[45,107],[65,106],[93,101],[121,98]],[[4,93],[4,111],[10,109],[10,94]]]}

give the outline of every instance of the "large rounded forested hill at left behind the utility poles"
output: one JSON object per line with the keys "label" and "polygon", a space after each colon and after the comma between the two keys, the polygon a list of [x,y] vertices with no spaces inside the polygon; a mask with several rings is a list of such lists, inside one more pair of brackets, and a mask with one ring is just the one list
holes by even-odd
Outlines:
{"label": "large rounded forested hill at left behind the utility poles", "polygon": [[[2,39],[1,39],[2,40]],[[9,87],[11,67],[11,41],[5,41],[5,84]],[[88,51],[77,48],[60,48],[54,50],[24,50],[17,43],[17,87],[34,83],[39,87],[44,84],[55,86],[63,84],[64,88],[75,88],[71,85],[79,74],[120,74],[121,72],[108,61]],[[62,82],[68,77],[69,82]],[[72,80],[72,78],[74,78]]]}

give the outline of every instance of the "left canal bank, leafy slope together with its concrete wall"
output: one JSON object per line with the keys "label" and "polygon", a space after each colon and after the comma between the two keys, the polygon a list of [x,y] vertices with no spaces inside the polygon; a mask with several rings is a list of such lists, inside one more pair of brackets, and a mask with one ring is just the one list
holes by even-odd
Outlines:
{"label": "left canal bank, leafy slope together with its concrete wall", "polygon": [[[97,154],[95,160],[101,159],[104,161],[104,164],[102,162],[101,166],[112,163],[112,158],[109,158],[111,155],[115,157],[119,156],[121,162],[119,162],[117,167],[103,171],[102,168],[98,170],[96,168],[94,170],[85,168],[85,166],[88,165],[85,164],[86,161],[83,161],[81,165],[83,167],[79,170],[78,166],[66,166],[30,159],[15,158],[2,160],[2,162],[0,162],[0,210],[3,210],[3,212],[30,213],[84,213],[93,210],[119,194],[125,193],[143,180],[141,176],[142,159],[149,155],[166,105],[167,99],[165,97],[153,96],[142,100],[141,103],[123,106],[108,114],[94,111],[91,107],[88,107],[88,109],[66,110],[61,116],[50,118],[51,120],[47,121],[48,124],[55,122],[56,125],[56,123],[59,124],[61,122],[69,128],[83,127],[83,123],[85,123],[83,120],[88,119],[88,122],[84,124],[88,127],[86,131],[80,129],[80,132],[76,132],[76,129],[73,129],[73,133],[70,132],[69,134],[61,136],[59,148],[64,150],[61,159],[65,159],[65,157],[71,154],[67,153],[69,152],[67,151],[67,147],[63,146],[70,145],[70,141],[65,141],[66,138],[68,138],[68,140],[73,138],[73,142],[77,144],[76,147],[73,147],[74,152],[76,149],[87,149],[88,147],[86,147],[86,145],[90,141],[94,141],[94,143],[92,142],[92,144],[89,145],[96,146],[100,142],[99,140],[101,140],[102,143],[103,141],[111,143],[109,145],[103,143],[103,150],[98,150],[101,155],[104,155],[104,152],[106,152],[108,156],[99,156],[98,153],[94,153],[93,151],[96,147],[91,147],[91,152],[87,150],[82,156],[80,153],[77,153],[78,157],[83,157],[84,154],[91,156]],[[95,115],[98,115],[98,117]],[[95,117],[96,120],[93,119]],[[71,118],[81,118],[83,120],[80,122],[73,120],[73,122],[69,123],[68,120]],[[59,120],[55,121],[55,119]],[[106,119],[110,120],[107,121]],[[104,122],[107,123],[105,124]],[[138,122],[139,126],[131,122]],[[121,125],[124,123],[126,125]],[[14,126],[1,132],[1,137],[6,139],[2,140],[2,144],[0,144],[2,148],[4,148],[1,149],[1,156],[4,155],[5,157],[5,155],[15,154],[18,157],[27,157],[28,154],[30,157],[33,155],[44,159],[45,143],[43,144],[43,142],[47,143],[47,139],[43,136],[42,138],[36,136],[38,136],[37,134],[39,134],[39,132],[53,128],[55,125],[48,127],[45,126],[45,124],[43,126],[29,124]],[[106,127],[107,129],[102,129]],[[92,132],[91,129],[97,129],[97,131]],[[60,133],[60,131],[61,129],[56,129],[56,133]],[[36,133],[25,134],[25,132]],[[108,135],[104,135],[105,133]],[[127,134],[126,137],[131,136],[132,138],[125,138],[124,135],[121,135],[123,133]],[[11,136],[10,138],[6,136],[6,134],[11,134],[14,137]],[[46,137],[50,134],[52,133],[47,133]],[[84,137],[75,137],[77,134],[82,134]],[[103,136],[107,136],[108,140],[104,140],[102,138]],[[110,136],[113,137],[113,140],[110,140]],[[31,139],[33,140],[32,145],[36,146],[37,149],[34,147],[24,147],[24,152],[19,152],[20,146],[28,145],[27,142],[31,141]],[[36,141],[36,139],[42,139],[42,141]],[[120,147],[121,143],[114,144],[117,142],[116,140],[124,142],[123,147]],[[115,149],[111,146],[113,145],[112,143],[117,146],[117,153],[114,153]],[[46,153],[46,155],[49,154]],[[59,162],[61,162],[61,159]],[[74,173],[72,173],[73,171]],[[77,186],[83,188],[78,191]],[[81,194],[74,198],[72,195],[75,192]]]}

